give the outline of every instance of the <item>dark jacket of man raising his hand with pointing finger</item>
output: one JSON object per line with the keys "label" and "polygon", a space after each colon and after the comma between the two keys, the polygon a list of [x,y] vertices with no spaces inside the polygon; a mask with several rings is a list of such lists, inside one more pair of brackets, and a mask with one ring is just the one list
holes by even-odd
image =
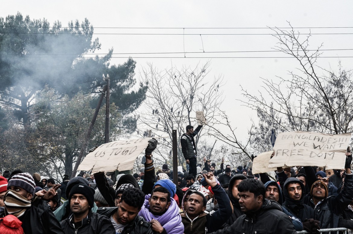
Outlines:
{"label": "dark jacket of man raising his hand with pointing finger", "polygon": [[[203,186],[205,186],[204,179],[201,180]],[[214,232],[222,228],[223,223],[232,214],[232,208],[230,206],[229,198],[220,185],[216,185],[212,188],[215,198],[219,204],[219,210],[213,213],[202,213],[192,222],[186,216],[185,212],[180,213],[181,222],[184,224],[185,234],[204,234]]]}

